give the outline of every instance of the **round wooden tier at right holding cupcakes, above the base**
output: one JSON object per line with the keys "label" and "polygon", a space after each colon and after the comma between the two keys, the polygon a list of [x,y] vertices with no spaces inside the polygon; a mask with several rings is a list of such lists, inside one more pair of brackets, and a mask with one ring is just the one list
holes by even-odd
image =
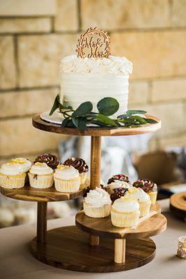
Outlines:
{"label": "round wooden tier at right holding cupcakes, above the base", "polygon": [[84,232],[95,236],[104,236],[111,239],[144,239],[148,236],[155,236],[166,229],[166,218],[160,214],[149,217],[139,223],[135,229],[114,227],[111,223],[111,216],[105,218],[91,218],[79,211],[76,215],[76,225]]}

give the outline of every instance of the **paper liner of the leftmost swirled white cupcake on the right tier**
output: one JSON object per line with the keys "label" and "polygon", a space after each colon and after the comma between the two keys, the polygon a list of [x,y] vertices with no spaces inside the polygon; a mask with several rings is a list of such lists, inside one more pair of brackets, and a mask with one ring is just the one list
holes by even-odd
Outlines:
{"label": "paper liner of the leftmost swirled white cupcake on the right tier", "polygon": [[104,218],[110,215],[111,205],[104,204],[101,207],[94,207],[84,202],[84,213],[86,216],[93,218]]}

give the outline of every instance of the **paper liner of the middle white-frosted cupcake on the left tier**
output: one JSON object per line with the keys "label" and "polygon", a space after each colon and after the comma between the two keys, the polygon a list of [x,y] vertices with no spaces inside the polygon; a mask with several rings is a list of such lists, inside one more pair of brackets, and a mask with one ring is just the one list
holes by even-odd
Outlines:
{"label": "paper liner of the middle white-frosted cupcake on the left tier", "polygon": [[29,172],[29,181],[32,188],[50,188],[54,183],[53,173],[45,175],[36,175]]}

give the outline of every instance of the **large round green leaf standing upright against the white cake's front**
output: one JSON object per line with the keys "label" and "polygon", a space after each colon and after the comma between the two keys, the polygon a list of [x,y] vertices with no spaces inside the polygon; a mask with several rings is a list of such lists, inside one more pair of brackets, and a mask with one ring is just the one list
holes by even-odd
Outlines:
{"label": "large round green leaf standing upright against the white cake's front", "polygon": [[118,111],[119,103],[116,99],[107,97],[100,100],[97,107],[100,114],[110,116]]}

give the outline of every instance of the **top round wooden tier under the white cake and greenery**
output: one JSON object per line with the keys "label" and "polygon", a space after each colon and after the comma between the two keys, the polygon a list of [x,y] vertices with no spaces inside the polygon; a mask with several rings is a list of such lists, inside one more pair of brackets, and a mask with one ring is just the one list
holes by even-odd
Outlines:
{"label": "top round wooden tier under the white cake and greenery", "polygon": [[49,123],[40,119],[40,114],[33,116],[32,123],[35,128],[45,130],[51,133],[58,133],[63,135],[80,135],[80,136],[119,136],[119,135],[139,135],[150,132],[155,132],[161,128],[161,120],[155,116],[147,115],[148,118],[155,119],[157,123],[146,124],[134,128],[87,128],[86,130],[79,130],[77,128],[62,128],[59,124]]}

